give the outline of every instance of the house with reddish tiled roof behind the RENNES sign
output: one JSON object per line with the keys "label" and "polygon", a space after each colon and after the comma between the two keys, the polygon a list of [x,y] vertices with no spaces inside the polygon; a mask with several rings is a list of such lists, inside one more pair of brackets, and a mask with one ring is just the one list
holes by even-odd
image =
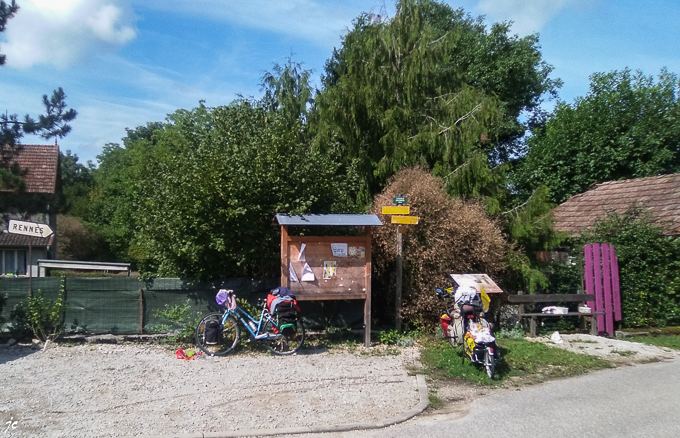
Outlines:
{"label": "house with reddish tiled roof behind the RENNES sign", "polygon": [[[21,145],[17,154],[4,163],[18,165],[23,190],[0,189],[0,274],[39,275],[39,259],[56,255],[56,207],[60,191],[59,146]],[[55,231],[50,237],[32,237],[7,232],[9,220],[47,224]],[[30,247],[30,262],[29,262]]]}

